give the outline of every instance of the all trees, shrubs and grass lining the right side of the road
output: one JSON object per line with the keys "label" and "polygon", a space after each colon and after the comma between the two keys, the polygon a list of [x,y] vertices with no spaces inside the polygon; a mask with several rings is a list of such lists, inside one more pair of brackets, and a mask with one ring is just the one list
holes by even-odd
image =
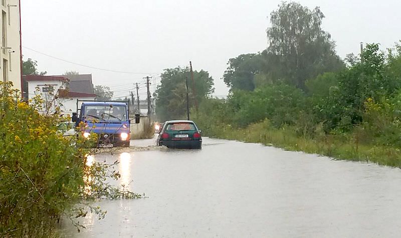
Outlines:
{"label": "all trees, shrubs and grass lining the right side of the road", "polygon": [[[269,47],[229,60],[227,99],[211,97],[209,87],[196,94],[196,112],[189,96],[203,134],[401,167],[401,45],[383,51],[366,44],[360,55],[340,59],[318,7],[283,2],[269,19]],[[165,72],[156,111],[185,119],[189,71],[179,79]]]}

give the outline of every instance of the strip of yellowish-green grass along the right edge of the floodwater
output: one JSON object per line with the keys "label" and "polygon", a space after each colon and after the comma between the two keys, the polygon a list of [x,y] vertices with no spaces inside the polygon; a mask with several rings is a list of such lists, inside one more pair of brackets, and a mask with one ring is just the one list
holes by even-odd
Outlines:
{"label": "strip of yellowish-green grass along the right edge of the floodwater", "polygon": [[401,151],[384,145],[362,143],[353,135],[299,136],[292,127],[271,128],[267,122],[232,128],[230,125],[208,125],[205,135],[215,138],[262,143],[285,150],[329,156],[338,160],[366,161],[401,168]]}

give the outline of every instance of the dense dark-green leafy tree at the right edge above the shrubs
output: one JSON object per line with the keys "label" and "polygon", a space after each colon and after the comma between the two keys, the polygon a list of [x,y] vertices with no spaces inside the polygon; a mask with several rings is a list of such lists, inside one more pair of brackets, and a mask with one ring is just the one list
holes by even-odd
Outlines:
{"label": "dense dark-green leafy tree at the right edge above the shrubs", "polygon": [[[314,105],[326,131],[338,126],[349,131],[352,125],[362,122],[367,99],[378,101],[382,97],[392,97],[401,87],[400,75],[397,76],[394,70],[400,56],[391,57],[392,61],[387,63],[377,44],[367,45],[362,52],[362,61],[337,75],[338,86]],[[344,126],[344,120],[348,118],[351,125]]]}

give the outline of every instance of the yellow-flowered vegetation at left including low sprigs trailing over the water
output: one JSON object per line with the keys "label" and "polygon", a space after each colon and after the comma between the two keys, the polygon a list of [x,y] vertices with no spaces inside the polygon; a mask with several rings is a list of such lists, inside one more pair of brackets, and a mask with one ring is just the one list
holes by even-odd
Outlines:
{"label": "yellow-flowered vegetation at left including low sprigs trailing over the water", "polygon": [[[82,136],[64,137],[57,125],[57,111],[43,114],[43,100],[21,101],[11,83],[0,82],[0,236],[47,237],[55,235],[60,219],[90,212],[103,217],[106,211],[91,205],[99,198],[139,198],[111,186],[120,174],[114,164],[94,160],[96,143]],[[56,98],[56,97],[54,97]],[[46,105],[48,102],[46,102]]]}

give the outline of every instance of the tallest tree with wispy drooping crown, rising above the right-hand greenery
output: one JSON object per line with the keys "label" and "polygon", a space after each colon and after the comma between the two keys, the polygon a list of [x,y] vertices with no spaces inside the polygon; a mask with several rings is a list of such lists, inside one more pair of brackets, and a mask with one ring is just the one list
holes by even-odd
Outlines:
{"label": "tallest tree with wispy drooping crown, rising above the right-hand greenery", "polygon": [[323,19],[319,7],[311,11],[295,2],[283,2],[270,15],[267,52],[279,56],[283,78],[298,88],[304,89],[307,79],[344,67],[330,34],[321,28]]}

